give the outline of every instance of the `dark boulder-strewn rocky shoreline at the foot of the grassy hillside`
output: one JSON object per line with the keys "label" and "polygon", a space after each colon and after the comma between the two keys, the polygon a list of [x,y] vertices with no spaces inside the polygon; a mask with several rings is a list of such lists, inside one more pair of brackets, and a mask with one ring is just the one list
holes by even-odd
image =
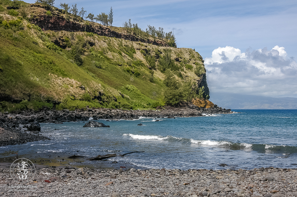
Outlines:
{"label": "dark boulder-strewn rocky shoreline at the foot of the grassy hillside", "polygon": [[0,113],[0,146],[22,144],[38,140],[50,140],[38,131],[31,131],[29,125],[38,123],[63,124],[70,121],[87,121],[90,118],[98,119],[138,119],[139,117],[174,118],[206,116],[209,114],[233,113],[230,109],[222,109],[216,105],[212,108],[199,108],[196,105],[184,104],[180,107],[166,106],[160,110],[121,110],[106,108],[88,108],[69,110],[50,110],[47,107],[41,110],[15,111],[15,113]]}

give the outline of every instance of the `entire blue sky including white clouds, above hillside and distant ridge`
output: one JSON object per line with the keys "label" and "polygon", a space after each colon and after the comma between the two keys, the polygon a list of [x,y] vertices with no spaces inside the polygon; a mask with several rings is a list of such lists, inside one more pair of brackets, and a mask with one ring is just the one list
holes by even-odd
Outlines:
{"label": "entire blue sky including white clouds, above hillside and distant ridge", "polygon": [[211,92],[297,97],[296,0],[61,2],[94,15],[112,7],[113,26],[131,19],[142,29],[173,31],[177,47],[195,49],[205,60]]}

